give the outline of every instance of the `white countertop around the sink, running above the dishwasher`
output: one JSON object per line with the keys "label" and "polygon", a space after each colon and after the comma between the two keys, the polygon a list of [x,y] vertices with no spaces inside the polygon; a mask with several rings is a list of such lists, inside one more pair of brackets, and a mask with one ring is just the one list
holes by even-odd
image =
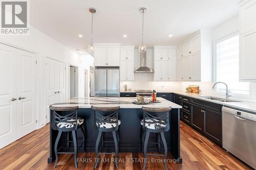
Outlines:
{"label": "white countertop around the sink, running above the dishwasher", "polygon": [[[160,91],[158,91],[158,92],[160,92]],[[212,102],[212,103],[217,103],[217,104],[220,104],[220,105],[223,105],[223,106],[228,106],[228,107],[232,107],[232,108],[247,110],[247,111],[251,111],[251,112],[256,113],[256,103],[253,103],[253,102],[244,102],[244,101],[240,101],[240,100],[237,100],[237,99],[230,99],[230,100],[236,100],[236,101],[240,101],[240,102],[219,102],[219,101],[200,98],[200,96],[214,96],[214,97],[217,97],[217,98],[222,98],[218,95],[186,93],[184,91],[172,91],[172,93],[180,94],[180,95],[188,96],[188,97],[191,97],[191,98],[196,98],[196,99],[200,99],[200,100],[204,100],[204,101],[208,101],[208,102]]]}

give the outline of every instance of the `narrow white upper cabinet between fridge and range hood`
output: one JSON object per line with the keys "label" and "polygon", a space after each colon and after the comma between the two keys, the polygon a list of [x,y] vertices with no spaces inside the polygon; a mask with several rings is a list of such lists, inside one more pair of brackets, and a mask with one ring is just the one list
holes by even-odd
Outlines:
{"label": "narrow white upper cabinet between fridge and range hood", "polygon": [[120,48],[120,81],[134,81],[134,46]]}

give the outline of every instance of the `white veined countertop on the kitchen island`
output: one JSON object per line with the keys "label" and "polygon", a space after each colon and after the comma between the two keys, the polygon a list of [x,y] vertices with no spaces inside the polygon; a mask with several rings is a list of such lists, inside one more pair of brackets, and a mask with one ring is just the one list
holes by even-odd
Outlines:
{"label": "white veined countertop on the kitchen island", "polygon": [[63,103],[53,104],[55,107],[69,107],[69,106],[78,106],[79,108],[91,108],[92,106],[98,107],[115,107],[119,106],[120,108],[142,108],[146,107],[172,107],[174,109],[182,108],[180,105],[177,105],[173,102],[167,101],[163,98],[157,98],[161,103],[148,104],[148,105],[135,105],[132,102],[137,100],[136,98],[105,98],[105,97],[91,97],[91,98],[73,98],[69,99]]}

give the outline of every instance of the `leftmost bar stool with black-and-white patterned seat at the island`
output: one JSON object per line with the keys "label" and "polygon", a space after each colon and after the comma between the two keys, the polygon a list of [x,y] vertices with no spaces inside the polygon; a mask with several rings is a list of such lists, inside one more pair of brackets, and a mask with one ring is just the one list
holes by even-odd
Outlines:
{"label": "leftmost bar stool with black-and-white patterned seat at the island", "polygon": [[[85,137],[86,137],[86,132],[83,126],[83,123],[85,123],[84,119],[81,117],[77,117],[77,110],[78,106],[75,107],[55,107],[55,106],[50,106],[50,109],[53,111],[53,116],[51,120],[52,124],[52,129],[53,130],[58,130],[58,135],[55,141],[54,145],[54,152],[55,152],[55,163],[53,168],[56,167],[57,162],[58,162],[58,154],[74,154],[75,157],[75,167],[77,168],[77,150],[79,150],[81,147],[83,147],[84,152],[86,151],[86,142],[85,142]],[[66,112],[67,115],[60,115],[59,112]],[[77,141],[76,138],[76,130],[81,129],[82,135],[83,135],[83,141]],[[66,136],[66,147],[67,147],[67,152],[58,152],[61,148],[58,147],[58,142],[61,137],[62,132],[66,132],[66,135],[69,134],[69,132],[72,132],[72,137],[73,141],[70,141],[69,138],[67,140]],[[69,142],[74,143],[74,152],[68,152],[69,151]],[[77,148],[77,143],[81,142],[82,144],[80,145],[79,148]]]}

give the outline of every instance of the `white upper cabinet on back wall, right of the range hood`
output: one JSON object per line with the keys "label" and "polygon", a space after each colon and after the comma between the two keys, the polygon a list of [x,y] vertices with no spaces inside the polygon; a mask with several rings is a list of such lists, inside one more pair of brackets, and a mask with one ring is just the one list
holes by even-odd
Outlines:
{"label": "white upper cabinet on back wall, right of the range hood", "polygon": [[176,46],[154,46],[154,81],[177,81]]}

